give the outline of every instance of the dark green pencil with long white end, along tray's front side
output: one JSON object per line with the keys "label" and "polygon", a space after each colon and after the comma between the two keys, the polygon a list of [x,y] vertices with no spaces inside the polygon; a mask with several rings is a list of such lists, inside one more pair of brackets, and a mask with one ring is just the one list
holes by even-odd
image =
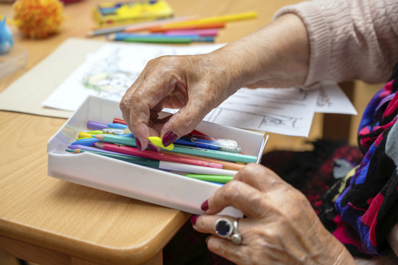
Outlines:
{"label": "dark green pencil with long white end, along tray's front side", "polygon": [[68,151],[70,153],[75,153],[75,154],[84,153],[84,152],[95,153],[98,155],[112,157],[115,159],[131,162],[134,164],[140,164],[141,166],[148,166],[148,167],[152,167],[152,168],[159,168],[159,169],[166,169],[166,170],[176,170],[176,171],[182,171],[182,172],[191,172],[194,174],[209,174],[209,175],[211,175],[211,174],[221,175],[222,174],[225,176],[234,176],[236,174],[236,171],[232,171],[232,170],[209,168],[209,167],[205,167],[205,166],[193,166],[193,165],[189,165],[189,164],[180,164],[180,163],[159,161],[159,160],[154,160],[154,159],[146,159],[146,158],[142,158],[142,157],[128,157],[125,155],[115,155],[115,154],[90,151],[90,150],[84,150],[84,149],[76,149],[76,150],[66,149],[65,151]]}

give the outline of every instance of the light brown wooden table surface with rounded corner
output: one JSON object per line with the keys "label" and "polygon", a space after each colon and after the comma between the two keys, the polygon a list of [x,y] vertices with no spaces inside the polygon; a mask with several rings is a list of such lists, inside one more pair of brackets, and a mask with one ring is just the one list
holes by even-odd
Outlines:
{"label": "light brown wooden table surface with rounded corner", "polygon": [[[65,5],[64,27],[48,39],[26,39],[13,27],[15,41],[27,48],[29,62],[0,79],[0,91],[68,37],[84,37],[93,26],[90,11],[98,2]],[[176,15],[258,12],[257,19],[228,23],[217,37],[217,43],[224,43],[258,29],[278,8],[298,1],[168,2]],[[0,14],[12,17],[11,4],[0,4]],[[162,248],[189,213],[49,177],[47,141],[65,119],[0,111],[0,121],[0,252],[39,264],[162,263]]]}

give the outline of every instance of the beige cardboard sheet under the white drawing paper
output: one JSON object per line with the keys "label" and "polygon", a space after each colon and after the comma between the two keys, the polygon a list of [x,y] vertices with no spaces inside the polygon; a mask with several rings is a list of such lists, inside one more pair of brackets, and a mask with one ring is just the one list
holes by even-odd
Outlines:
{"label": "beige cardboard sheet under the white drawing paper", "polygon": [[0,110],[69,118],[73,112],[47,108],[41,103],[86,60],[87,53],[95,52],[104,43],[88,39],[67,39],[0,94]]}

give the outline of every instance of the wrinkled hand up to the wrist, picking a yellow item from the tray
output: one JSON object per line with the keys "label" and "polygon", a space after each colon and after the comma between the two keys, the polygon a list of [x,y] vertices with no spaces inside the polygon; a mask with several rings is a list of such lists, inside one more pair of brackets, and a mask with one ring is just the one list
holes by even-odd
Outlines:
{"label": "wrinkled hand up to the wrist, picking a yellow item from the tray", "polygon": [[[195,129],[243,85],[240,69],[237,58],[220,51],[150,60],[120,103],[127,126],[139,139],[137,147],[145,149],[148,137],[159,135],[168,146]],[[160,120],[163,107],[181,109]]]}

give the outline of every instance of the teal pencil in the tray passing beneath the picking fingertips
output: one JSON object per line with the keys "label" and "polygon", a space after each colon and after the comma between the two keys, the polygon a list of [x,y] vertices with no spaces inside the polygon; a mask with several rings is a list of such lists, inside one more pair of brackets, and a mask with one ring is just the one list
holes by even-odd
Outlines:
{"label": "teal pencil in the tray passing beneath the picking fingertips", "polygon": [[[107,143],[116,143],[121,145],[129,145],[137,147],[135,139],[130,137],[123,137],[120,135],[111,135],[111,134],[97,134],[95,135],[95,137],[96,139]],[[201,149],[197,147],[188,147],[184,145],[174,145],[174,149],[171,150],[170,152],[181,153],[186,155],[197,155],[199,157],[209,157],[209,158],[215,158],[215,159],[221,159],[233,162],[241,162],[241,163],[250,163],[257,161],[257,157],[251,155],[242,155],[242,154],[228,153],[223,151]]]}

